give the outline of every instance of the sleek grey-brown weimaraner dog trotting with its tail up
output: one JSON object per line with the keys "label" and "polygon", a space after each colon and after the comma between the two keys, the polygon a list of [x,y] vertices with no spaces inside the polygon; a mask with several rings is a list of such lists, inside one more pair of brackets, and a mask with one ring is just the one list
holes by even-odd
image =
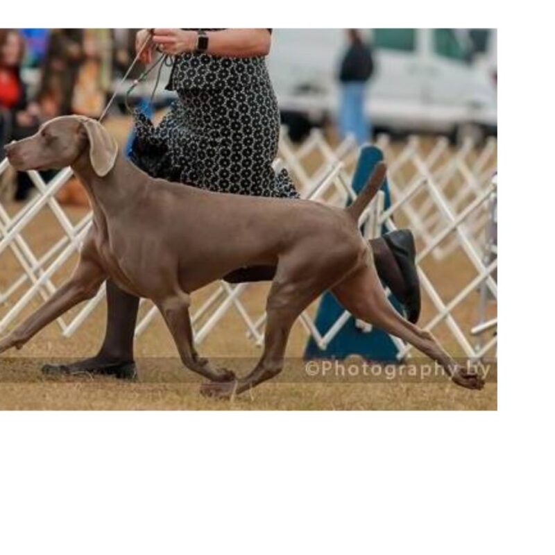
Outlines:
{"label": "sleek grey-brown weimaraner dog trotting with its tail up", "polygon": [[[282,369],[291,326],[323,291],[350,313],[411,343],[445,368],[456,384],[479,389],[478,375],[457,366],[432,334],[404,320],[379,282],[359,217],[382,184],[379,164],[345,209],[308,200],[212,193],[153,179],[121,153],[100,123],[58,117],[36,135],[6,147],[17,170],[71,166],[94,213],[71,278],[0,341],[0,353],[21,348],[46,324],[92,298],[110,277],[121,289],[160,309],[183,364],[209,381],[204,395],[229,398]],[[236,268],[277,265],[268,296],[264,352],[246,377],[198,357],[189,296]]]}

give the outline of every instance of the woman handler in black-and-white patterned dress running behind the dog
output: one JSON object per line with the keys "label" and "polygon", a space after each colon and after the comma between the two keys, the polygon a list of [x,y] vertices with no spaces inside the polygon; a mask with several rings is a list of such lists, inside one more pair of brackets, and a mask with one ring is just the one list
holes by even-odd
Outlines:
{"label": "woman handler in black-and-white patterned dress running behind the dog", "polygon": [[[149,32],[137,34],[137,50]],[[277,175],[280,113],[264,57],[270,29],[155,29],[153,49],[175,56],[167,89],[178,94],[160,125],[135,112],[136,139],[130,159],[150,176],[210,191],[294,198],[286,170]],[[284,223],[284,225],[286,225]],[[370,241],[380,278],[402,302],[412,321],[420,311],[413,239],[398,231]],[[271,280],[274,268],[238,268],[229,282]],[[45,371],[135,377],[133,336],[139,299],[107,283],[108,323],[95,357]]]}

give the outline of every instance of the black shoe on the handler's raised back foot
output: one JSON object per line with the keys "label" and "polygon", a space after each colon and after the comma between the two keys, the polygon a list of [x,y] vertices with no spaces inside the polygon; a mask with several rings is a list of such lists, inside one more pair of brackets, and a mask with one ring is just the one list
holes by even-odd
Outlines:
{"label": "black shoe on the handler's raised back foot", "polygon": [[407,311],[407,320],[416,324],[420,318],[420,280],[414,259],[416,246],[410,230],[397,230],[383,236],[389,250],[395,258],[404,280],[402,290],[391,292],[401,302]]}

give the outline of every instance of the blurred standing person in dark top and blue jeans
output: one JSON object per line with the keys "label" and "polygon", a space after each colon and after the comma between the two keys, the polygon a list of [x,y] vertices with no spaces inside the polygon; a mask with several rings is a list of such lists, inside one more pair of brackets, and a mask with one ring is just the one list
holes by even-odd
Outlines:
{"label": "blurred standing person in dark top and blue jeans", "polygon": [[372,49],[362,40],[358,29],[348,29],[347,32],[349,46],[339,69],[339,131],[343,139],[354,135],[357,144],[362,145],[372,134],[364,113],[364,99],[366,85],[374,71],[374,58]]}

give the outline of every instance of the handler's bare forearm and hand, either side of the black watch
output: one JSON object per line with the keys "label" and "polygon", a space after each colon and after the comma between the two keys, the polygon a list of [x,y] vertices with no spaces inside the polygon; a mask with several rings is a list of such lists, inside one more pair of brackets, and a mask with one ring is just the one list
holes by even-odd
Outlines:
{"label": "handler's bare forearm and hand, either side of the black watch", "polygon": [[[223,29],[207,31],[207,53],[212,56],[253,58],[266,56],[270,51],[271,35],[268,29]],[[153,42],[167,54],[192,52],[196,47],[196,31],[182,29],[155,29]]]}

